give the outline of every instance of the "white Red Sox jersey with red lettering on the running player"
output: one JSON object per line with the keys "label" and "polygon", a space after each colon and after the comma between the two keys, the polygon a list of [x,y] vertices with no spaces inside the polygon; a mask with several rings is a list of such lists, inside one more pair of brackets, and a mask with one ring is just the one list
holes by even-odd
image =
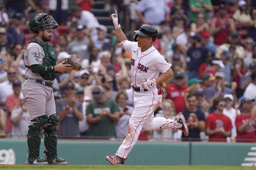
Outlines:
{"label": "white Red Sox jersey with red lettering on the running player", "polygon": [[120,43],[120,47],[132,56],[131,78],[134,86],[141,87],[145,78],[147,80],[157,78],[160,72],[166,72],[172,65],[166,62],[164,56],[160,55],[153,45],[141,52],[138,42],[125,40]]}

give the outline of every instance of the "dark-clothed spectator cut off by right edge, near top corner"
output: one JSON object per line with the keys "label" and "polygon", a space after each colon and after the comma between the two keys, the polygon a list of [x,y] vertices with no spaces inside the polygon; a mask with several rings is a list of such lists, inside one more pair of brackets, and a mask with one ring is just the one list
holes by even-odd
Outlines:
{"label": "dark-clothed spectator cut off by right edge, near top corner", "polygon": [[[253,2],[253,1],[252,1]],[[248,37],[252,37],[254,42],[256,42],[256,9],[252,8],[250,11],[251,20],[247,23],[247,33]]]}

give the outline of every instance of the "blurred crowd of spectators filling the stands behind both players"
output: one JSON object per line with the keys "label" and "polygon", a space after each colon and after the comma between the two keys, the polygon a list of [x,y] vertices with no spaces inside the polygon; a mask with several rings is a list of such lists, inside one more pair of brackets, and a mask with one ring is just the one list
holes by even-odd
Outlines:
{"label": "blurred crowd of spectators filling the stands behind both players", "polygon": [[[1,137],[27,135],[24,52],[34,38],[27,23],[39,12],[59,24],[50,41],[57,62],[71,58],[82,65],[54,80],[58,137],[126,137],[134,109],[131,55],[116,43],[107,20],[94,13],[100,3],[0,0]],[[139,139],[256,142],[256,1],[106,0],[99,8],[105,17],[118,10],[130,41],[140,25],[154,25],[158,38],[153,46],[172,64],[174,76],[157,84],[164,90],[154,115],[184,115],[189,135],[142,129]]]}

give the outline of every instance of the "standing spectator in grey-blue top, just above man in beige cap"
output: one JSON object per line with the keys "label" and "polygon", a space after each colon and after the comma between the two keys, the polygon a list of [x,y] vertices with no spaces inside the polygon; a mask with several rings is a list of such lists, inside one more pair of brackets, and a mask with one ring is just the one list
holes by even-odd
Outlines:
{"label": "standing spectator in grey-blue top, just above man in beige cap", "polygon": [[224,67],[219,68],[218,71],[224,72],[225,74],[225,80],[227,82],[230,82],[230,76],[231,76],[231,64],[230,64],[230,52],[229,51],[222,51],[220,55],[220,59],[222,60],[222,63],[224,64]]}

